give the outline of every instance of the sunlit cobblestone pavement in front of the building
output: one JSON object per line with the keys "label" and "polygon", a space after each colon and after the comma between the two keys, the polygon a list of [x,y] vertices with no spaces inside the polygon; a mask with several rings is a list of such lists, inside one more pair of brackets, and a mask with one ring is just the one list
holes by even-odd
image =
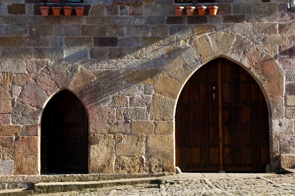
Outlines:
{"label": "sunlit cobblestone pavement in front of the building", "polygon": [[108,187],[38,196],[295,196],[295,174],[164,180],[160,185]]}

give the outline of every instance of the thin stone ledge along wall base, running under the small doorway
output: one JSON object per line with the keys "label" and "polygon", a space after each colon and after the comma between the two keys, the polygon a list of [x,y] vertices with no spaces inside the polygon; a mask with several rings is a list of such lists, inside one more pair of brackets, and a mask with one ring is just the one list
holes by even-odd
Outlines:
{"label": "thin stone ledge along wall base, running under the small doorway", "polygon": [[173,175],[175,173],[97,173],[97,174],[48,174],[48,175],[7,175],[0,176],[0,183],[27,183],[40,182],[86,182],[99,180],[117,180],[128,178],[150,178]]}

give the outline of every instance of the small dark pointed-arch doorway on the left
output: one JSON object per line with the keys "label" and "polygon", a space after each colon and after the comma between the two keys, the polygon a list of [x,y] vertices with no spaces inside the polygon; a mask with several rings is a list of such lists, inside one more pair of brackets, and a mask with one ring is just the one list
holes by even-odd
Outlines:
{"label": "small dark pointed-arch doorway on the left", "polygon": [[62,90],[41,119],[41,173],[88,172],[88,118],[73,93]]}

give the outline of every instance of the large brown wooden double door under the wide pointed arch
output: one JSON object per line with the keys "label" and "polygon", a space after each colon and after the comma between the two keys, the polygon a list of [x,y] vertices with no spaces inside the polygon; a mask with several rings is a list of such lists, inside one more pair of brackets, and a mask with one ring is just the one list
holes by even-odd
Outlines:
{"label": "large brown wooden double door under the wide pointed arch", "polygon": [[266,99],[252,76],[224,58],[200,68],[177,102],[176,166],[186,172],[264,172]]}

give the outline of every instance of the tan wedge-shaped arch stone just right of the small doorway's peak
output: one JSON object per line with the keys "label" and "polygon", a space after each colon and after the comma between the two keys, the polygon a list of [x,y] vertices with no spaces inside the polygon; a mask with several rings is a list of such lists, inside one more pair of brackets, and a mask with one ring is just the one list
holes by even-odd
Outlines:
{"label": "tan wedge-shaped arch stone just right of the small doorway's peak", "polygon": [[84,67],[80,67],[78,73],[76,73],[72,83],[70,84],[70,89],[73,92],[79,93],[85,89],[90,82],[95,79],[95,76],[86,70]]}

